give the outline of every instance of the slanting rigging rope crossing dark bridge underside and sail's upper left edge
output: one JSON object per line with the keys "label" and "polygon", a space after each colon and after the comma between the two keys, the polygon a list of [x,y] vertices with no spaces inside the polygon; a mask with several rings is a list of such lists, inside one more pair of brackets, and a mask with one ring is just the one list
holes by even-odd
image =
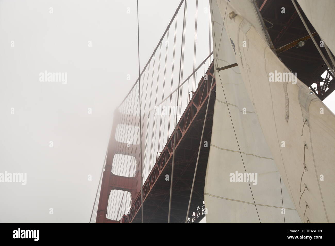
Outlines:
{"label": "slanting rigging rope crossing dark bridge underside and sail's upper left edge", "polygon": [[[226,18],[226,13],[227,13],[227,8],[228,8],[228,1],[227,1],[227,5],[226,5],[226,10],[224,13],[224,18],[223,18],[223,24],[222,24],[222,30],[221,30],[221,37],[222,37],[222,32],[223,32],[223,27],[224,27],[224,20]],[[213,9],[213,8],[211,8]],[[213,15],[212,15],[213,16]],[[214,33],[214,32],[213,32]],[[215,35],[215,34],[214,34]],[[220,42],[219,42],[219,47],[220,48],[220,44],[221,44],[221,37],[220,37]],[[215,42],[215,36],[214,36],[214,42]],[[217,50],[216,50],[216,44],[215,44],[215,53],[216,53],[216,58],[217,58]],[[200,138],[200,144],[199,144],[199,150],[198,150],[198,156],[197,156],[197,162],[195,164],[195,170],[194,170],[194,175],[193,175],[193,181],[192,181],[192,188],[191,188],[191,194],[190,194],[190,199],[189,199],[189,203],[188,203],[188,207],[187,207],[187,213],[186,213],[186,219],[185,219],[185,223],[187,223],[187,218],[189,216],[189,212],[190,212],[190,206],[191,206],[191,200],[192,200],[192,194],[193,194],[193,189],[194,189],[194,182],[195,182],[195,176],[197,174],[197,168],[198,168],[198,163],[199,163],[199,156],[200,156],[200,149],[201,149],[201,145],[202,145],[202,138],[204,136],[204,131],[205,131],[205,125],[206,125],[206,118],[207,118],[207,112],[208,112],[208,106],[209,106],[209,101],[210,101],[210,96],[211,96],[211,92],[212,92],[212,85],[213,85],[213,80],[214,80],[214,68],[217,66],[217,59],[215,61],[215,65],[213,64],[213,76],[212,76],[212,82],[211,85],[209,87],[209,96],[208,96],[208,101],[207,101],[207,107],[206,107],[206,113],[205,113],[205,118],[204,118],[204,124],[202,126],[202,132],[201,132],[201,138]],[[242,154],[241,154],[242,156]],[[249,184],[250,185],[250,184]]]}

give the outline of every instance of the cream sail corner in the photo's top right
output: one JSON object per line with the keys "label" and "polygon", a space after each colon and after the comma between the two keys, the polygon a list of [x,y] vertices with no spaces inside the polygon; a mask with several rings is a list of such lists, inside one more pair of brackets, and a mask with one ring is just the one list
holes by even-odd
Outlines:
{"label": "cream sail corner in the photo's top right", "polygon": [[298,0],[298,3],[321,39],[335,53],[335,1]]}

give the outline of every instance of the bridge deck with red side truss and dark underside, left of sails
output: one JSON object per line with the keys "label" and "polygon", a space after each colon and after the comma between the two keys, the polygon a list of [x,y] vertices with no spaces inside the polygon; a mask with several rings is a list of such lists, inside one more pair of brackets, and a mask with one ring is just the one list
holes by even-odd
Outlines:
{"label": "bridge deck with red side truss and dark underside, left of sails", "polygon": [[[186,219],[212,73],[213,64],[207,70],[208,80],[205,81],[202,79],[199,82],[198,89],[192,97],[177,126],[178,130],[172,190],[171,223],[184,223]],[[215,80],[213,81],[212,89],[215,90]],[[197,209],[198,207],[203,206],[203,192],[212,132],[214,102],[215,92],[212,92],[194,183],[190,215],[197,210],[199,211],[199,209]],[[143,185],[144,223],[167,222],[172,171],[173,136],[174,133],[172,133],[169,141],[164,147],[160,157]],[[204,146],[205,141],[207,141],[208,144],[206,147]],[[166,180],[166,174],[169,175],[170,180]],[[135,202],[130,210],[130,215],[127,216],[126,222],[141,222],[141,209],[139,202],[140,194],[137,196],[137,199],[135,199]],[[198,218],[203,218],[203,216]]]}

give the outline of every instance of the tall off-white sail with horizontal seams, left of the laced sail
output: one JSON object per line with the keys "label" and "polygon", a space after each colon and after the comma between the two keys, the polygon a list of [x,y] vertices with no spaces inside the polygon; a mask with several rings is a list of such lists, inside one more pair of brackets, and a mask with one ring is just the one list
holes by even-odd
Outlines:
{"label": "tall off-white sail with horizontal seams, left of the laced sail", "polygon": [[[222,31],[227,3],[210,4],[214,64],[216,59],[216,67],[236,63],[234,50],[237,52],[238,44],[231,41],[225,29]],[[253,5],[247,2],[244,8]],[[258,21],[251,13],[246,11]],[[239,67],[215,71],[214,75],[216,100],[204,191],[207,223],[301,222],[265,141]],[[236,173],[252,173],[254,179],[249,176],[250,183],[239,182]]]}

